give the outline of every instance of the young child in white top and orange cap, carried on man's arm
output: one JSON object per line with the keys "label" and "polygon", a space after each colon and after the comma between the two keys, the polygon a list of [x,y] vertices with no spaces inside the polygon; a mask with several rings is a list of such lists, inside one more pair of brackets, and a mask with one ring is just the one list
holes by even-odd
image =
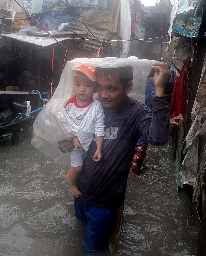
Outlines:
{"label": "young child in white top and orange cap, carried on man's arm", "polygon": [[104,111],[98,100],[93,99],[96,92],[95,67],[81,65],[72,69],[74,72],[73,92],[57,117],[68,131],[68,140],[72,141],[74,149],[70,151],[71,167],[65,178],[69,182],[72,194],[81,196],[77,188],[77,178],[83,169],[83,160],[93,140],[97,143],[97,150],[93,160],[102,159],[102,143],[104,136]]}

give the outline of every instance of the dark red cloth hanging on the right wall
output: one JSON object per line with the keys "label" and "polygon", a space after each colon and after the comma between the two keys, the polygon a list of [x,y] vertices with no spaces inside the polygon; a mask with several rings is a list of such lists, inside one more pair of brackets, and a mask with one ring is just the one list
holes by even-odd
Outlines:
{"label": "dark red cloth hanging on the right wall", "polygon": [[173,94],[170,102],[170,117],[178,116],[185,112],[186,98],[187,98],[187,87],[186,87],[186,74],[187,69],[190,66],[191,59],[188,60],[185,68],[181,72],[180,77],[176,78]]}

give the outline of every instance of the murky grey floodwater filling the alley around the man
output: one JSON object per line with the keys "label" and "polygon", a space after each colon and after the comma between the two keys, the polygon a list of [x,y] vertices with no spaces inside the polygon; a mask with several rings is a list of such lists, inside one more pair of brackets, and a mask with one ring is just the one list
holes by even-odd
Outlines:
{"label": "murky grey floodwater filling the alley around the man", "polygon": [[[109,256],[83,249],[66,170],[20,139],[0,146],[0,255]],[[192,256],[197,238],[186,192],[177,192],[170,144],[149,147],[141,174],[128,178],[114,255]],[[155,197],[156,196],[156,197]]]}

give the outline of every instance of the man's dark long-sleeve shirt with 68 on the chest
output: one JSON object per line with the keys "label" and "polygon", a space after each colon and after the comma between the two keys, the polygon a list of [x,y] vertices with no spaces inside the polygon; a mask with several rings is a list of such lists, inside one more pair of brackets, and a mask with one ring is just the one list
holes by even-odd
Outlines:
{"label": "man's dark long-sleeve shirt with 68 on the chest", "polygon": [[129,98],[116,112],[105,111],[103,158],[93,161],[96,142],[92,141],[78,177],[78,188],[85,203],[112,209],[124,202],[127,178],[134,149],[140,136],[152,145],[169,139],[167,97],[153,97],[153,110]]}

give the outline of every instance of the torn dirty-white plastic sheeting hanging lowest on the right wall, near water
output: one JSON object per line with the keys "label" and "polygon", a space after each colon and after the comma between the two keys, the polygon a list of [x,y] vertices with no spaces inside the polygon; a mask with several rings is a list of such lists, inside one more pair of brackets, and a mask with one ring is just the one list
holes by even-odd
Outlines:
{"label": "torn dirty-white plastic sheeting hanging lowest on the right wall, near water", "polygon": [[206,132],[206,121],[201,125],[201,119],[201,116],[196,116],[195,121],[185,138],[186,146],[183,153],[185,154],[186,149],[188,150],[182,161],[179,173],[179,185],[181,187],[184,184],[195,185],[198,165],[199,135],[203,135]]}

